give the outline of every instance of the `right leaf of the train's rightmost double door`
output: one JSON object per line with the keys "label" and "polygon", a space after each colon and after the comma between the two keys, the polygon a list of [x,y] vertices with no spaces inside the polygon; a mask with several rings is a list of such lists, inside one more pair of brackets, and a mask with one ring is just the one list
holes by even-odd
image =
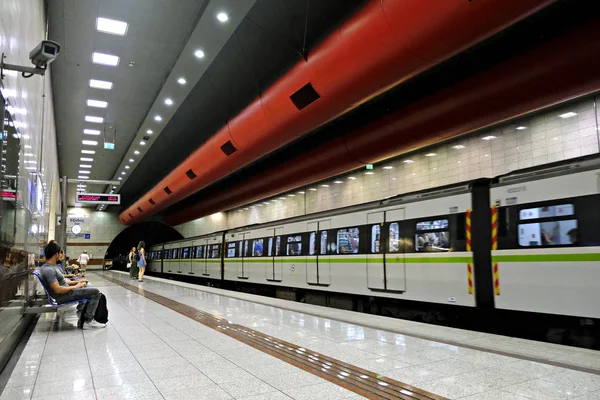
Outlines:
{"label": "right leaf of the train's rightmost double door", "polygon": [[[400,243],[400,221],[404,220],[404,208],[386,211],[385,221],[389,222],[387,237],[389,249],[385,255],[386,290],[403,292],[406,290],[406,269],[404,246]],[[382,246],[383,247],[383,246]]]}

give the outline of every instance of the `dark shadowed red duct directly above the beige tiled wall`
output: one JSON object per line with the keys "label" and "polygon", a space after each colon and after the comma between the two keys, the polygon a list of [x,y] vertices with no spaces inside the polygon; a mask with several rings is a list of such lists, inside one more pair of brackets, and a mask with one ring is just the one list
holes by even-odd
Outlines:
{"label": "dark shadowed red duct directly above the beige tiled wall", "polygon": [[600,22],[287,160],[196,206],[166,217],[178,225],[329,178],[600,90]]}

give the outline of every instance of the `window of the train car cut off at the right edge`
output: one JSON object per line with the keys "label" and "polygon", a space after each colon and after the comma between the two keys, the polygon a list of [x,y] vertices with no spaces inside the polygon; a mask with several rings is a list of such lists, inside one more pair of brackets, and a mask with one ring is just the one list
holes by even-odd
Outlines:
{"label": "window of the train car cut off at the right edge", "polygon": [[519,224],[519,246],[564,246],[579,242],[577,220]]}

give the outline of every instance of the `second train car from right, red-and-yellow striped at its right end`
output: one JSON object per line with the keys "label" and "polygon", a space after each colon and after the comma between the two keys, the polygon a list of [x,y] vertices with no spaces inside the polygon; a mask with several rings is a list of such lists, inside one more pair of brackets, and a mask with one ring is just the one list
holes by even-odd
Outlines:
{"label": "second train car from right, red-and-yellow striped at its right end", "polygon": [[[478,269],[491,279],[487,185],[228,231],[224,280],[467,307],[489,302],[491,285],[480,279],[479,297],[474,287]],[[477,210],[485,224],[467,226]],[[472,229],[482,230],[473,234],[479,246],[467,240]]]}

